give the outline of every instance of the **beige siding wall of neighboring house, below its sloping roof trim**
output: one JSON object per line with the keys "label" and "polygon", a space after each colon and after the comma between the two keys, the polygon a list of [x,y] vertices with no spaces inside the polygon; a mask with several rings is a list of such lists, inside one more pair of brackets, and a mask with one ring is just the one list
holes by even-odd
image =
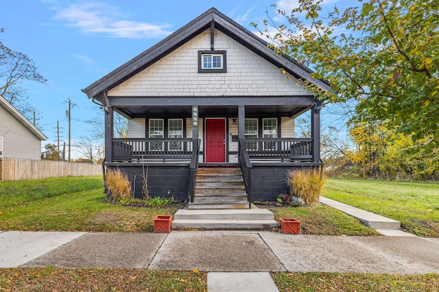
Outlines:
{"label": "beige siding wall of neighboring house, below its sloping roof trim", "polygon": [[41,140],[0,105],[3,157],[40,159]]}

